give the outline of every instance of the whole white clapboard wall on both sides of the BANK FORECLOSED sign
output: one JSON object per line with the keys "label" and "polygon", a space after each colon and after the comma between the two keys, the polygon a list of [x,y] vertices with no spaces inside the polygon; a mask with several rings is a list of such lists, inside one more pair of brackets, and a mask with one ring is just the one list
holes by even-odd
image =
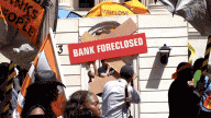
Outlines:
{"label": "whole white clapboard wall on both sides of the BANK FORECLOSED sign", "polygon": [[[122,15],[110,17],[58,20],[56,44],[63,45],[59,55],[67,88],[71,95],[77,90],[88,90],[87,68],[84,64],[69,64],[67,45],[78,43],[86,31],[103,21],[123,23],[131,17],[138,26],[137,33],[146,34],[147,54],[141,54],[134,59],[133,67],[138,73],[138,85],[142,103],[132,106],[134,118],[167,118],[167,92],[171,74],[181,61],[188,61],[188,28],[181,17],[171,15]],[[158,48],[167,44],[171,48],[167,66],[159,62]],[[57,48],[58,49],[58,48]]]}

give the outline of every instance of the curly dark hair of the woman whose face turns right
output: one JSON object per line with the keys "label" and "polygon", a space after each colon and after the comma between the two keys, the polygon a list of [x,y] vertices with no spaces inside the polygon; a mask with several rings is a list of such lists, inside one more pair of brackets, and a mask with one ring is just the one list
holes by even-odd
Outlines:
{"label": "curly dark hair of the woman whose face turns right", "polygon": [[64,110],[65,118],[77,118],[81,115],[84,106],[87,101],[93,95],[93,93],[89,91],[77,91],[70,97],[69,101],[66,103],[66,107]]}

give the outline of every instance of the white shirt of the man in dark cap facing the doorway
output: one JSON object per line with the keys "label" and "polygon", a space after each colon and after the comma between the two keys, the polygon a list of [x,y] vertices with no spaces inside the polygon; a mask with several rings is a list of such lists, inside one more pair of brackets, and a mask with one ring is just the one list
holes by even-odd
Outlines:
{"label": "white shirt of the man in dark cap facing the doorway", "polygon": [[[104,85],[102,93],[102,117],[103,118],[126,118],[129,113],[125,104],[125,85],[124,79],[110,81]],[[137,92],[127,85],[129,98],[131,103],[140,103],[141,98]]]}

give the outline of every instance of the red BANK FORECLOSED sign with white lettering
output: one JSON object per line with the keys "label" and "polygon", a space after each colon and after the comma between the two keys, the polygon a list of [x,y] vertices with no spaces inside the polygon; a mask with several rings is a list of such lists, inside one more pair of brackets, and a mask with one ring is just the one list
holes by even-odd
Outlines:
{"label": "red BANK FORECLOSED sign with white lettering", "polygon": [[69,44],[70,63],[116,58],[147,52],[145,33]]}

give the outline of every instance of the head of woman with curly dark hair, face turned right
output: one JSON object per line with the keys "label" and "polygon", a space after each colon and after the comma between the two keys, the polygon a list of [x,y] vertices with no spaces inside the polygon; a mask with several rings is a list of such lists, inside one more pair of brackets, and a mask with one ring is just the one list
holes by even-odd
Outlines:
{"label": "head of woman with curly dark hair, face turned right", "polygon": [[90,109],[92,116],[101,116],[98,97],[89,91],[77,91],[66,103],[64,116],[65,118],[76,118],[85,108]]}

